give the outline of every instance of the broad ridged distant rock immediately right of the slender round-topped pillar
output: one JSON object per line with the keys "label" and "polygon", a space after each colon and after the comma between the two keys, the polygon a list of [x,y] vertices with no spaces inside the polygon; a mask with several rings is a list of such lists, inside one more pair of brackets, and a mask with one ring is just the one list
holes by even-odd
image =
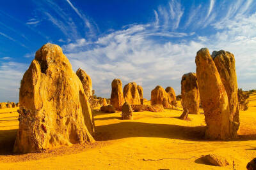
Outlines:
{"label": "broad ridged distant rock immediately right of the slender round-topped pillar", "polygon": [[138,85],[135,82],[128,83],[124,86],[124,100],[129,104],[140,104],[140,94]]}

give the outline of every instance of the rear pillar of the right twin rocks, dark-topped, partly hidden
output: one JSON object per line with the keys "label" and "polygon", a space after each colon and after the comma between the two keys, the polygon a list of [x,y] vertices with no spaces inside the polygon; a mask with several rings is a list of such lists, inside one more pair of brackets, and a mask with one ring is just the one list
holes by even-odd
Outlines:
{"label": "rear pillar of the right twin rocks, dark-topped, partly hidden", "polygon": [[237,96],[236,60],[232,53],[220,50],[212,52],[212,59],[220,74],[221,81],[228,95],[231,121],[239,128],[239,103]]}

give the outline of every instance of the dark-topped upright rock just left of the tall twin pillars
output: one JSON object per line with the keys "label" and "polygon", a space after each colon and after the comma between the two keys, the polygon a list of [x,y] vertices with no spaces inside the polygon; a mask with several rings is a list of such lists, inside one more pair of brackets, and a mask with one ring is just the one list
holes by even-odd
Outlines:
{"label": "dark-topped upright rock just left of the tall twin pillars", "polygon": [[195,73],[182,76],[181,98],[183,110],[188,110],[188,114],[199,114],[200,96]]}

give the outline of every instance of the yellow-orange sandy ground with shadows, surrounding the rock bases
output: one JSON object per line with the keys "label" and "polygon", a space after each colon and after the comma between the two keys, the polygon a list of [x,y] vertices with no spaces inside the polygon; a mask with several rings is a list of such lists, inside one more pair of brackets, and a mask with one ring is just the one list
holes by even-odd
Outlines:
{"label": "yellow-orange sandy ground with shadows, surrounding the rock bases", "polygon": [[[12,153],[17,108],[0,110],[0,169],[233,169],[233,160],[236,169],[246,169],[256,157],[256,95],[249,106],[240,112],[236,141],[205,140],[204,115],[179,120],[182,108],[138,112],[134,120],[120,120],[120,112],[95,110],[97,142],[22,155]],[[199,158],[209,153],[225,157],[230,166],[204,164]]]}

